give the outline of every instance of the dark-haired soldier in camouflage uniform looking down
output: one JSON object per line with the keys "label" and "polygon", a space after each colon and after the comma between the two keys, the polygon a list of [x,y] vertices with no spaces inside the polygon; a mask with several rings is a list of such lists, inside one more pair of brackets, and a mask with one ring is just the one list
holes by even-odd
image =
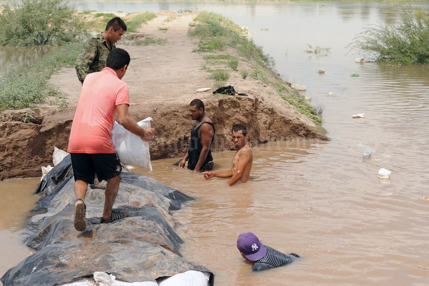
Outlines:
{"label": "dark-haired soldier in camouflage uniform looking down", "polygon": [[88,39],[74,63],[77,78],[84,83],[85,77],[105,67],[107,56],[116,47],[115,43],[121,39],[127,30],[125,22],[115,17],[106,24],[105,31]]}

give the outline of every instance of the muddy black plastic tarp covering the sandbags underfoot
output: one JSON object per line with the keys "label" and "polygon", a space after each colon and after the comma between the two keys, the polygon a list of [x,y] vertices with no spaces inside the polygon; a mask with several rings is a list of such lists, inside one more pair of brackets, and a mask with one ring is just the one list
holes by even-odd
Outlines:
{"label": "muddy black plastic tarp covering the sandbags underfoot", "polygon": [[[114,209],[129,216],[100,224],[104,190],[89,189],[86,196],[87,228],[73,226],[74,179],[50,198],[47,212],[30,222],[37,232],[25,244],[37,252],[9,269],[0,279],[9,285],[53,286],[90,277],[96,271],[113,274],[127,282],[155,281],[189,270],[213,274],[186,261],[179,251],[179,225],[171,210],[192,199],[147,176],[122,173]],[[43,198],[41,198],[43,199]]]}

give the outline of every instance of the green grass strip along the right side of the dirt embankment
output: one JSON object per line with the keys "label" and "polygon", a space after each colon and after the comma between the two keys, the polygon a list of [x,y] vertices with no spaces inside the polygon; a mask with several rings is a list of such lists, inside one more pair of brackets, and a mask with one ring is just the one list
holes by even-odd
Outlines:
{"label": "green grass strip along the right side of the dirt embankment", "polygon": [[[214,88],[225,86],[229,79],[229,70],[239,72],[243,79],[251,76],[266,85],[274,87],[279,96],[291,105],[317,122],[321,123],[316,108],[311,106],[298,91],[291,91],[289,84],[281,80],[279,74],[273,70],[274,60],[263,53],[261,47],[257,46],[253,40],[243,36],[243,29],[228,18],[213,13],[200,12],[195,17],[189,29],[188,35],[199,40],[195,52],[204,53],[203,59],[206,61],[205,69],[210,72],[209,78],[215,81]],[[237,52],[237,57],[228,54],[218,54],[228,48]],[[216,54],[214,54],[216,53]],[[238,70],[239,62],[253,62],[252,70]],[[207,66],[224,65],[225,69],[210,69]],[[228,69],[226,69],[228,68]]]}

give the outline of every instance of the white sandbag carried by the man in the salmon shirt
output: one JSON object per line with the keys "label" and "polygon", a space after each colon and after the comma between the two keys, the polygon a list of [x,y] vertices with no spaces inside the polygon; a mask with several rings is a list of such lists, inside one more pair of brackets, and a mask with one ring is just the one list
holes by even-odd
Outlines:
{"label": "white sandbag carried by the man in the salmon shirt", "polygon": [[[143,128],[150,127],[152,117],[137,122]],[[112,130],[112,141],[122,164],[136,165],[152,171],[150,163],[149,142],[144,141],[115,121]]]}

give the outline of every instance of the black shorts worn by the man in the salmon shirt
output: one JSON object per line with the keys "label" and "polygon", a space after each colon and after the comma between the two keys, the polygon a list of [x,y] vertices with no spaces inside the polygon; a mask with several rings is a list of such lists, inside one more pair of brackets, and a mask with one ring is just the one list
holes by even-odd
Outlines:
{"label": "black shorts worn by the man in the salmon shirt", "polygon": [[75,181],[83,180],[88,184],[94,184],[96,173],[98,180],[101,181],[116,177],[122,171],[118,153],[70,153],[70,157]]}

